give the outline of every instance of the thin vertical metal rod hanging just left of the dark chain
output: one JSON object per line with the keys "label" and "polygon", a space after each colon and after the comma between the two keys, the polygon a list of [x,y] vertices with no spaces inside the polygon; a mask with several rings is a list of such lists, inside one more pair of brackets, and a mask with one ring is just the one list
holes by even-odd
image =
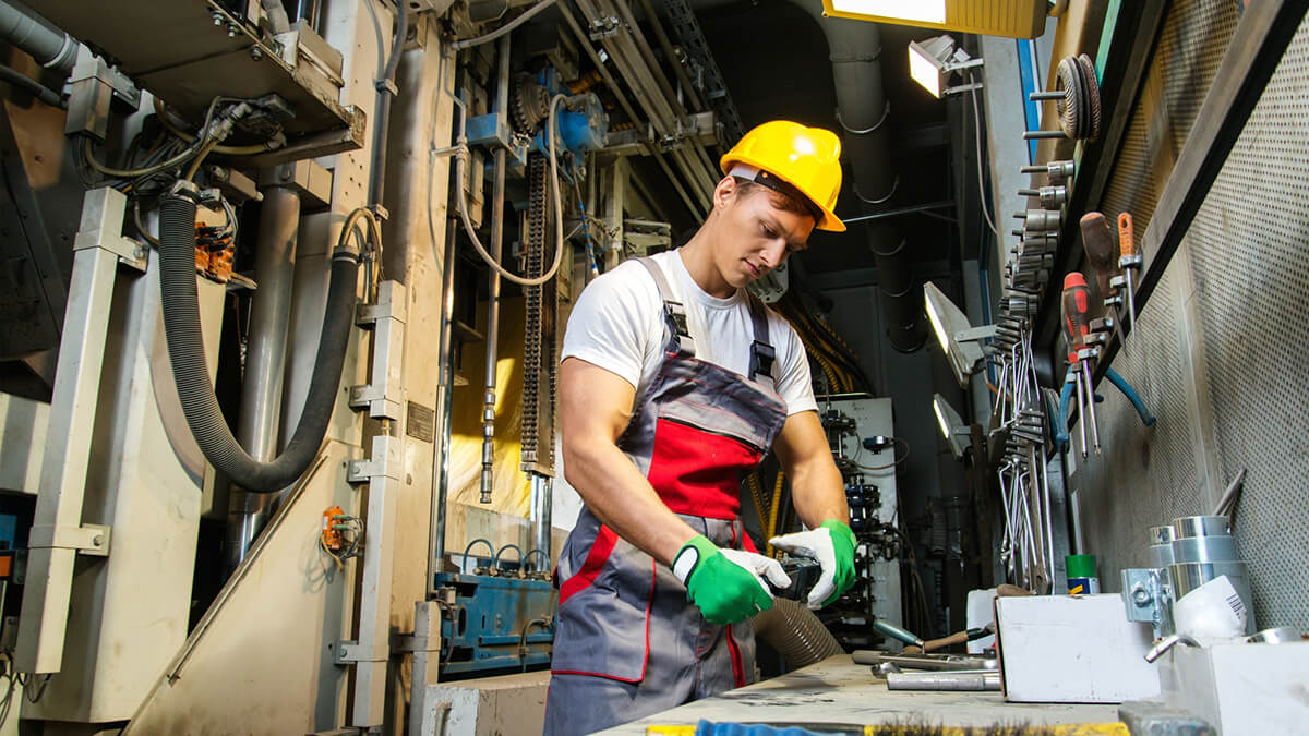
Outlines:
{"label": "thin vertical metal rod hanging just left of the dark chain", "polygon": [[[496,115],[508,115],[509,107],[509,37],[503,35],[496,42],[500,58],[499,79],[496,80]],[[493,189],[491,190],[491,257],[500,262],[504,246],[504,170],[505,149],[495,149]],[[462,185],[461,185],[462,186]],[[482,405],[482,488],[479,503],[491,503],[491,490],[495,485],[495,394],[496,359],[500,330],[500,274],[493,268],[487,275],[487,351],[486,351],[486,393]]]}

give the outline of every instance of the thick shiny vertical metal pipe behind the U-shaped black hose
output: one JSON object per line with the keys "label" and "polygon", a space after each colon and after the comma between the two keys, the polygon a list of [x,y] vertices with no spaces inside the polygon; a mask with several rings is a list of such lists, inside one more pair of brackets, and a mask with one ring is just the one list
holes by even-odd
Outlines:
{"label": "thick shiny vertical metal pipe behind the U-shaped black hose", "polygon": [[[241,418],[237,440],[250,457],[267,462],[278,456],[281,418],[281,385],[287,365],[287,334],[291,325],[291,287],[296,272],[296,241],[300,228],[300,195],[291,187],[272,186],[263,193],[255,280],[259,289],[250,304],[250,335],[245,377],[241,384]],[[232,488],[228,516],[228,572],[250,551],[250,545],[272,515],[276,494],[249,494]]]}

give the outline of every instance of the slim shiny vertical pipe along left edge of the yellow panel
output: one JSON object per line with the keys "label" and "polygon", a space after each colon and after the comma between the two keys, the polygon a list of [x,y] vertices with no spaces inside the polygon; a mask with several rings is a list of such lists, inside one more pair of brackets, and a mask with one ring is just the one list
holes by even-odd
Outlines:
{"label": "slim shiny vertical pipe along left edge of the yellow panel", "polygon": [[[463,182],[454,182],[463,186]],[[432,443],[432,523],[427,536],[427,591],[436,592],[435,575],[442,571],[445,559],[445,503],[450,492],[450,403],[454,361],[450,350],[454,331],[454,217],[446,219],[445,257],[441,261],[441,343],[436,367],[440,378],[436,386],[436,430]]]}

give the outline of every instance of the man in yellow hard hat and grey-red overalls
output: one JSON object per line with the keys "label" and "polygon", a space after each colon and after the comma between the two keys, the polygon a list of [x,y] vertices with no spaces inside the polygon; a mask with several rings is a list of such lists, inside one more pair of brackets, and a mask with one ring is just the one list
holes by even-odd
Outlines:
{"label": "man in yellow hard hat and grey-red overalls", "polygon": [[[678,250],[592,282],[559,367],[564,470],[585,503],[559,559],[546,733],[590,733],[754,678],[750,617],[789,583],[753,551],[742,473],[771,448],[812,529],[810,608],[853,583],[846,494],[792,327],[745,289],[833,213],[840,144],[774,120],[723,157],[713,210]],[[745,547],[745,549],[742,549]],[[751,550],[751,551],[746,551]]]}

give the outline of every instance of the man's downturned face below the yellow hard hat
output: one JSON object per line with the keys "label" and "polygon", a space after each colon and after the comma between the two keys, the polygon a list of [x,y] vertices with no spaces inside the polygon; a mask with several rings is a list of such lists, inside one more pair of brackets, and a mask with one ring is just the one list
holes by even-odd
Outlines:
{"label": "man's downturned face below the yellow hard hat", "polygon": [[713,194],[723,217],[715,265],[733,287],[762,278],[784,263],[792,251],[805,249],[814,219],[775,207],[767,189],[757,186],[742,193],[736,181],[726,177]]}

